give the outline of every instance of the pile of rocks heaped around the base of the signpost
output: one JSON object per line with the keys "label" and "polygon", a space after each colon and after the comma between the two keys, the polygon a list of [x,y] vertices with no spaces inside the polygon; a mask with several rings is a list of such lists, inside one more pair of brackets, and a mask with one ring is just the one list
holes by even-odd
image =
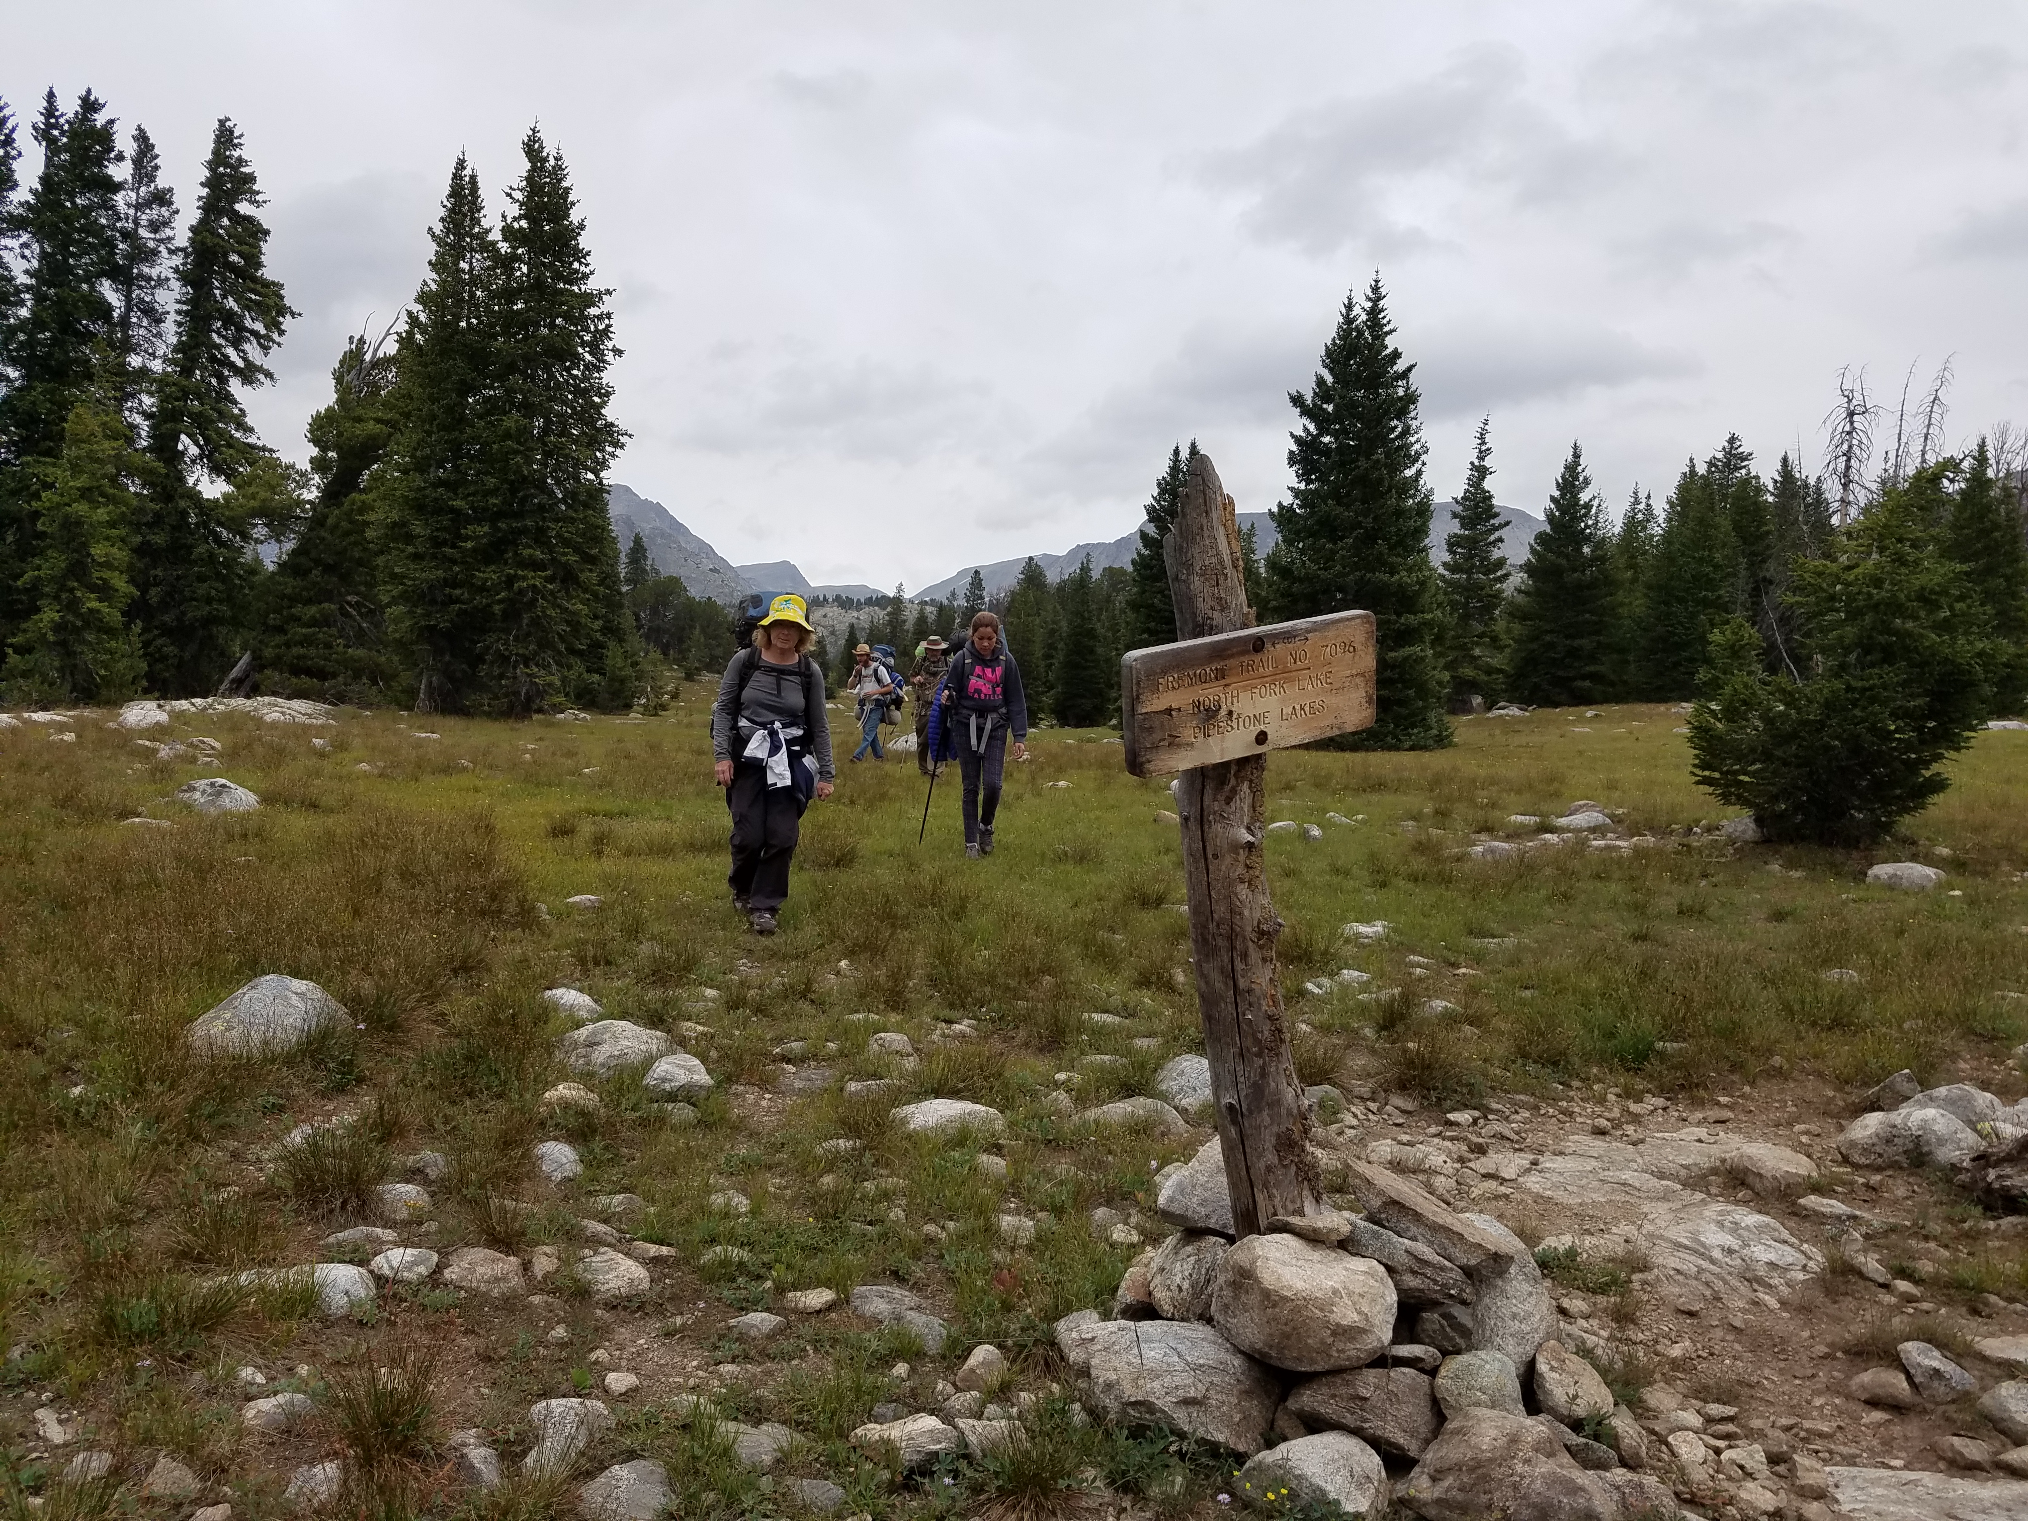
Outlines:
{"label": "pile of rocks heaped around the base of the signpost", "polygon": [[1162,1184],[1182,1227],[1128,1270],[1113,1318],[1057,1324],[1087,1405],[1247,1454],[1245,1497],[1349,1515],[1679,1515],[1667,1450],[1558,1334],[1533,1253],[1489,1215],[1363,1162],[1363,1217],[1233,1241],[1219,1142]]}

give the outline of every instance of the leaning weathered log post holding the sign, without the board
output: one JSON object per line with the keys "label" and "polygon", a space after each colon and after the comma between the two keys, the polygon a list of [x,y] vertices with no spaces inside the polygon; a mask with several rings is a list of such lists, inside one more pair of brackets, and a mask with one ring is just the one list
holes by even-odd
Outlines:
{"label": "leaning weathered log post holding the sign, without the board", "polygon": [[[1190,460],[1176,527],[1162,539],[1176,637],[1253,627],[1239,525],[1209,454]],[[1274,943],[1282,933],[1261,840],[1268,758],[1184,771],[1176,785],[1190,894],[1197,1004],[1211,1059],[1211,1101],[1233,1197],[1233,1229],[1253,1235],[1276,1215],[1322,1205],[1308,1119],[1282,1018]]]}

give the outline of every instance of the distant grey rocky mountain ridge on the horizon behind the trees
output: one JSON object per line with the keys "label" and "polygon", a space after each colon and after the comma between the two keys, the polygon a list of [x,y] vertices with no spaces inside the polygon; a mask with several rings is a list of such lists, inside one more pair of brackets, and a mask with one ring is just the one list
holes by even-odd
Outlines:
{"label": "distant grey rocky mountain ridge on the horizon behind the trees", "polygon": [[[647,544],[649,558],[663,576],[681,576],[683,586],[692,596],[710,596],[726,606],[738,606],[750,592],[797,592],[799,596],[888,596],[880,586],[846,584],[846,586],[811,586],[809,578],[797,568],[793,560],[769,560],[765,564],[734,566],[718,550],[700,539],[687,527],[683,527],[659,501],[649,501],[641,497],[631,487],[614,485],[606,495],[606,511],[612,515],[612,533],[621,541],[621,552],[639,533]],[[1501,507],[1501,517],[1507,519],[1507,527],[1501,531],[1501,548],[1507,554],[1507,564],[1513,570],[1521,568],[1527,560],[1527,546],[1541,531],[1543,521],[1533,513],[1525,513],[1519,507]],[[1038,554],[1032,556],[1051,580],[1061,580],[1069,576],[1077,566],[1091,556],[1093,570],[1105,570],[1107,566],[1130,566],[1134,562],[1134,550],[1140,546],[1140,533],[1148,523],[1142,521],[1132,533],[1124,533],[1117,539],[1075,544],[1063,554]],[[1253,527],[1255,541],[1261,554],[1274,548],[1276,531],[1274,519],[1268,513],[1239,513],[1239,527]],[[1430,517],[1430,558],[1444,558],[1444,539],[1456,527],[1456,503],[1440,501]],[[1030,556],[1018,556],[1014,560],[996,560],[977,568],[980,578],[986,582],[986,594],[1004,592],[1020,576],[1020,568],[1028,564]],[[959,598],[965,594],[965,586],[971,580],[971,566],[965,566],[955,576],[933,582],[911,592],[915,602],[939,602],[943,598]]]}

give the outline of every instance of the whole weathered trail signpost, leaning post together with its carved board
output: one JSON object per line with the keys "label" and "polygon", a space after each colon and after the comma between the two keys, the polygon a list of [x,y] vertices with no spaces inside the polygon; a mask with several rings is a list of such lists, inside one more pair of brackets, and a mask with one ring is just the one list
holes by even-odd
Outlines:
{"label": "whole weathered trail signpost, leaning post together with its carved board", "polygon": [[1121,661],[1128,771],[1182,771],[1182,868],[1211,1099],[1233,1197],[1251,1235],[1322,1205],[1302,1087],[1276,984],[1268,898],[1268,750],[1373,722],[1373,614],[1265,629],[1247,604],[1233,501],[1199,454],[1162,539],[1178,643]]}

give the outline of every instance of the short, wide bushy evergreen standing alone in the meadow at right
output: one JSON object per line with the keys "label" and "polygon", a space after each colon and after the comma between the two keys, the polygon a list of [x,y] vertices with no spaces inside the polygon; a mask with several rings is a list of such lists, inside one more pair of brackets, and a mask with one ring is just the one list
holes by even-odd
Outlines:
{"label": "short, wide bushy evergreen standing alone in the meadow at right", "polygon": [[1797,659],[1768,671],[1752,623],[1720,621],[1689,716],[1691,775],[1779,842],[1868,846],[1949,787],[1939,765],[1989,708],[2000,643],[1935,523],[1955,462],[1888,485],[1795,566]]}

